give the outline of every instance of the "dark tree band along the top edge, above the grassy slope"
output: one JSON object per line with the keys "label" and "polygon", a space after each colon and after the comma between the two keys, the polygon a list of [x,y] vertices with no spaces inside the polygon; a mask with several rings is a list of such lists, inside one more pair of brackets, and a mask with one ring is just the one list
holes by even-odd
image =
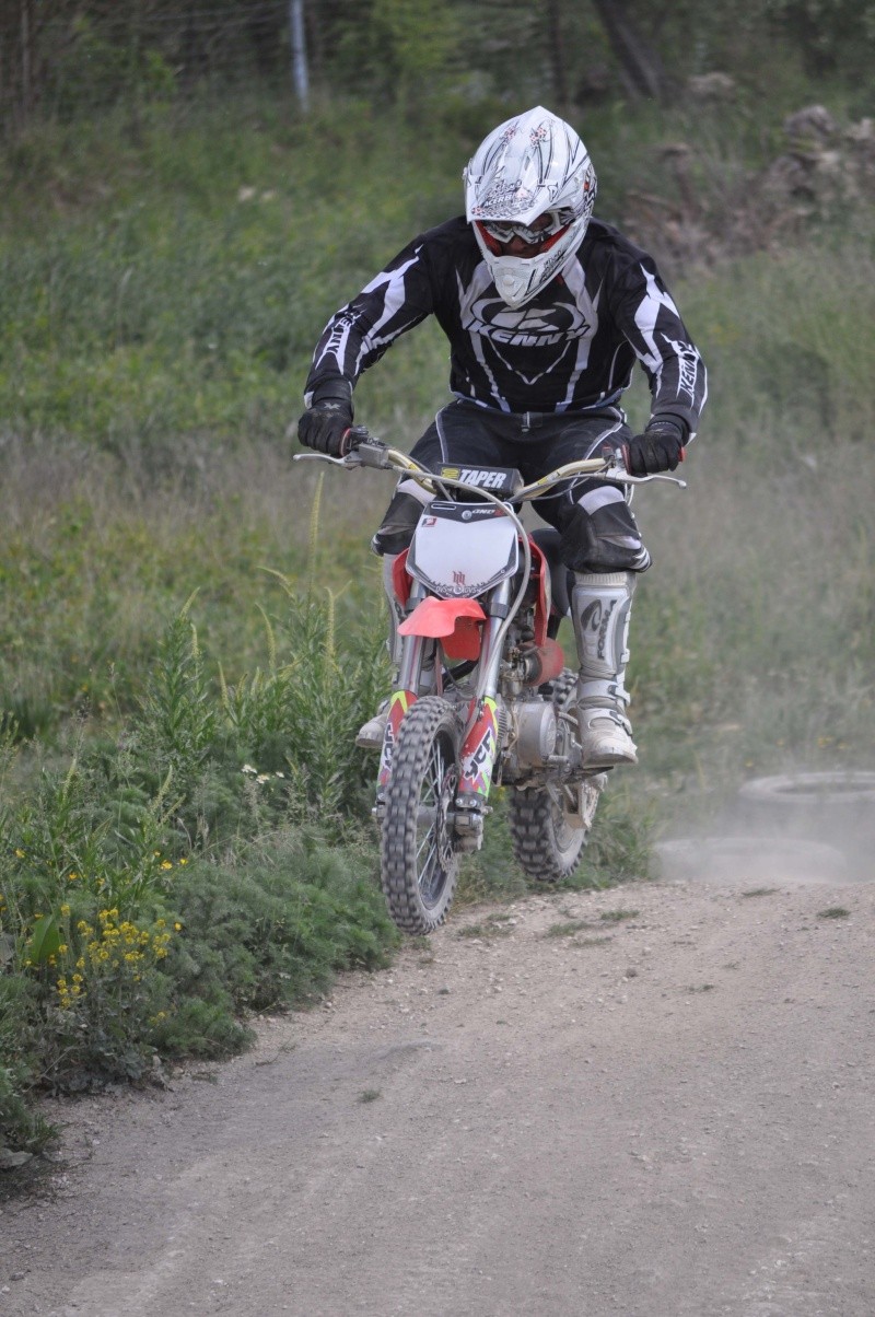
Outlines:
{"label": "dark tree band along the top edge, above the grassy slope", "polygon": [[[291,91],[282,0],[195,9],[169,0],[55,0],[26,5],[29,21],[5,11],[0,96],[18,129],[37,115],[71,120],[119,105],[136,134],[155,107],[221,101],[246,88]],[[354,87],[422,122],[514,99],[589,109],[647,88],[679,100],[691,75],[712,71],[771,96],[781,83],[801,92],[804,79],[841,75],[866,97],[875,47],[868,0],[331,0],[307,11],[316,100],[336,101]],[[867,99],[871,109],[871,88]]]}

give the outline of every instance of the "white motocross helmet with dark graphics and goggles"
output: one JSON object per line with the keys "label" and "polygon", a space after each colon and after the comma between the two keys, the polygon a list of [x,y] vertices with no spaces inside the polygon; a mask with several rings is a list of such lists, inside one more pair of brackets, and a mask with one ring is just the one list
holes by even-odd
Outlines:
{"label": "white motocross helmet with dark graphics and goggles", "polygon": [[[465,215],[498,295],[523,307],[584,240],[596,202],[589,151],[569,124],[535,105],[493,129],[463,178]],[[531,254],[507,253],[514,237]]]}

